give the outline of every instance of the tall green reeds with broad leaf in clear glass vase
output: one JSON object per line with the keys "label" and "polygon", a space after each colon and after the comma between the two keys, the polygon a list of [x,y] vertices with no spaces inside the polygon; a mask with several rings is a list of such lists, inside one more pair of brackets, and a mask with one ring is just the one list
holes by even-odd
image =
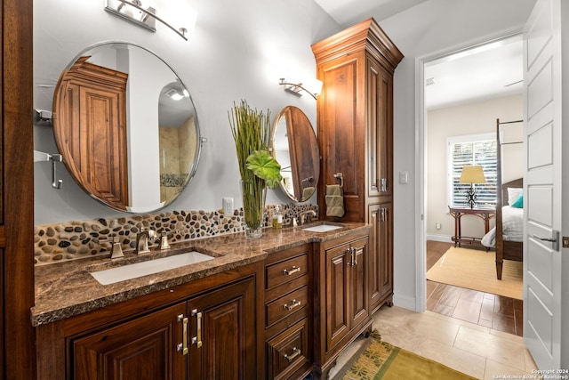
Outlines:
{"label": "tall green reeds with broad leaf in clear glass vase", "polygon": [[252,109],[246,101],[234,103],[229,111],[229,125],[241,174],[245,234],[248,238],[260,238],[267,188],[274,189],[282,180],[281,166],[268,153],[269,111],[264,114]]}

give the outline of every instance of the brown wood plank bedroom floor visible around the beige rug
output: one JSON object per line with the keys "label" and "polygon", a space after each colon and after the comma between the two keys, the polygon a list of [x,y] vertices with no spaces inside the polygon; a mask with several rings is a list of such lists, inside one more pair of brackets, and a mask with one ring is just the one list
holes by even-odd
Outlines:
{"label": "brown wood plank bedroom floor visible around the beige rug", "polygon": [[[453,243],[427,241],[427,270]],[[523,301],[427,280],[427,310],[523,336]]]}

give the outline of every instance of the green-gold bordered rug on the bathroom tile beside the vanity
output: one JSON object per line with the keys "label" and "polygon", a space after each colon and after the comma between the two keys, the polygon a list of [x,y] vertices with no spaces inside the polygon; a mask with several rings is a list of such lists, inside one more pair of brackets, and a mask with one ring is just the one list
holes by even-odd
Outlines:
{"label": "green-gold bordered rug on the bathroom tile beside the vanity", "polygon": [[381,342],[377,330],[365,341],[334,380],[475,379],[436,361],[423,358],[392,344]]}

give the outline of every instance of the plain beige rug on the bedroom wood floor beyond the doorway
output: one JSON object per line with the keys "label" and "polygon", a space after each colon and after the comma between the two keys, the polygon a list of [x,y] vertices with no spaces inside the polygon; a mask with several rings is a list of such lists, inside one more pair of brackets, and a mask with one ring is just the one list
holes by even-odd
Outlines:
{"label": "plain beige rug on the bedroom wood floor beyond the doorway", "polygon": [[427,279],[521,300],[523,263],[504,260],[501,279],[497,279],[495,255],[483,250],[450,247],[427,272]]}

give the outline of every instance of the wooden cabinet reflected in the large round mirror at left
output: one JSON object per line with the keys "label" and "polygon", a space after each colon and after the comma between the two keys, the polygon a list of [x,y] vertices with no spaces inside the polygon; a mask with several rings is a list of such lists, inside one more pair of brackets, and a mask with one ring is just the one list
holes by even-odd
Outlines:
{"label": "wooden cabinet reflected in the large round mirror at left", "polygon": [[80,185],[108,205],[129,205],[126,83],[128,75],[77,60],[61,78],[64,93],[55,94],[60,117],[53,133],[65,162]]}

